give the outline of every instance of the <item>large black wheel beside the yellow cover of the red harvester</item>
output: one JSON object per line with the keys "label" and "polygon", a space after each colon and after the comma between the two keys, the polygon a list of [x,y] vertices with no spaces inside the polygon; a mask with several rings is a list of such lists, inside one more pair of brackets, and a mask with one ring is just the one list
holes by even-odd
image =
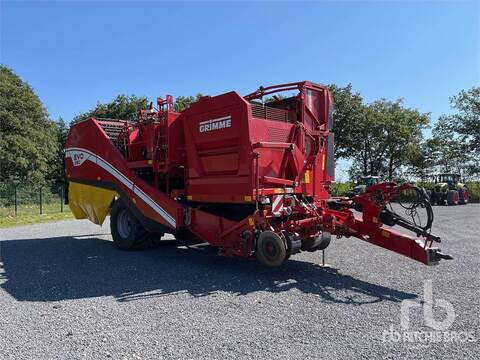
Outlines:
{"label": "large black wheel beside the yellow cover of the red harvester", "polygon": [[150,233],[142,226],[121,200],[115,201],[110,212],[110,231],[120,250],[140,250],[157,246],[161,235]]}

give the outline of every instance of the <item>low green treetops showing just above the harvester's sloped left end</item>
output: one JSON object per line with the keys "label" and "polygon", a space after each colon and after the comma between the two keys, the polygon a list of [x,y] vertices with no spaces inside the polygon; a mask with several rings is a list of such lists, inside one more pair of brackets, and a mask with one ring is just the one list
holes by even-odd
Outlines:
{"label": "low green treetops showing just above the harvester's sloped left end", "polygon": [[112,102],[98,103],[92,110],[79,114],[73,118],[73,123],[86,120],[90,117],[135,120],[139,109],[146,109],[148,100],[146,97],[135,95],[118,95]]}

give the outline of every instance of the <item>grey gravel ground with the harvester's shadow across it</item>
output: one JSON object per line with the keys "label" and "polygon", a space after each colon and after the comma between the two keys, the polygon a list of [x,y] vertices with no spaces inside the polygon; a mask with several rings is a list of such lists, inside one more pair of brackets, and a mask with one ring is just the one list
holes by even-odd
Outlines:
{"label": "grey gravel ground with the harvester's shadow across it", "polygon": [[[270,270],[168,240],[121,252],[108,223],[2,229],[0,358],[478,358],[480,205],[434,209],[455,258],[434,267],[355,239],[332,242],[331,268],[317,252]],[[384,341],[426,280],[453,305],[456,340]],[[422,314],[411,311],[410,334],[433,331]]]}

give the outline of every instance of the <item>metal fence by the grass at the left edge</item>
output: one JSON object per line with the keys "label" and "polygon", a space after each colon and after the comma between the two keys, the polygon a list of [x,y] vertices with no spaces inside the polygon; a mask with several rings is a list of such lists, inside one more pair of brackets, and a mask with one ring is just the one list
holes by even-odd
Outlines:
{"label": "metal fence by the grass at the left edge", "polygon": [[0,182],[0,217],[63,212],[65,187]]}

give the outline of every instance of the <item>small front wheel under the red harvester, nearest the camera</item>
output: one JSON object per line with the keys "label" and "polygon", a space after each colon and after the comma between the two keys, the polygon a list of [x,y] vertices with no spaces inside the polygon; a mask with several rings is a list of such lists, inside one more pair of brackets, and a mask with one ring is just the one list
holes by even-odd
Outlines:
{"label": "small front wheel under the red harvester, nearest the camera", "polygon": [[287,258],[287,248],[277,233],[264,231],[258,237],[255,256],[263,265],[278,267]]}

